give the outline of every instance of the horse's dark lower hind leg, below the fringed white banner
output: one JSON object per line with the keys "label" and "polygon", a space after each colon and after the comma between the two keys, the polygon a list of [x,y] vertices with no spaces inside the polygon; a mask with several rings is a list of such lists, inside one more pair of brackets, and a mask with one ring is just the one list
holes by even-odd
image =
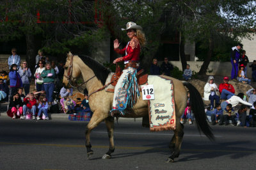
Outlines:
{"label": "horse's dark lower hind leg, below the fringed white banner", "polygon": [[181,146],[183,135],[184,135],[184,132],[183,132],[184,125],[182,125],[179,122],[179,118],[176,119],[176,122],[177,122],[176,123],[177,127],[174,130],[174,135],[169,144],[169,148],[172,151],[172,155],[166,160],[166,162],[174,162],[174,158],[177,158],[180,155],[180,146]]}

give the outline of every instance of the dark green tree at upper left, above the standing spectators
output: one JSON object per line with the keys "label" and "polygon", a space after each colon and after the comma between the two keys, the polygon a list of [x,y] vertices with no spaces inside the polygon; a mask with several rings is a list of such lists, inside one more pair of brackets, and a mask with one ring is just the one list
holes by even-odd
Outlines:
{"label": "dark green tree at upper left, above the standing spectators", "polygon": [[51,55],[65,54],[72,47],[90,47],[92,40],[102,37],[94,22],[93,5],[93,1],[83,0],[1,1],[1,41],[26,37],[30,67],[35,65],[38,41]]}

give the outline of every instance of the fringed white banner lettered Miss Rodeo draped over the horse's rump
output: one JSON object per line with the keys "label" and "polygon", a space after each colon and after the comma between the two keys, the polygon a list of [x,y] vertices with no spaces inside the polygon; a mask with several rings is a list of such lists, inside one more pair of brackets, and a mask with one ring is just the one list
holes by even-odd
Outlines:
{"label": "fringed white banner lettered Miss Rodeo draped over the horse's rump", "polygon": [[148,84],[154,86],[154,100],[148,100],[150,131],[174,130],[175,103],[173,82],[161,76],[148,76]]}

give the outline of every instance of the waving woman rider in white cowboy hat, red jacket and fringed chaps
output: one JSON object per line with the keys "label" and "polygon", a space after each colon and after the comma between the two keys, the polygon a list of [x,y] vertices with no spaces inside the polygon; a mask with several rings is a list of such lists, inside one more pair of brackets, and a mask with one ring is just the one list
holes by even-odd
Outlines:
{"label": "waving woman rider in white cowboy hat, red jacket and fringed chaps", "polygon": [[111,110],[112,116],[114,114],[120,114],[120,112],[124,114],[123,111],[127,108],[127,105],[132,107],[140,96],[136,75],[137,68],[139,67],[140,48],[146,42],[145,35],[141,31],[142,27],[134,22],[127,22],[126,29],[122,28],[122,31],[124,30],[127,31],[127,36],[131,39],[126,47],[124,49],[118,49],[120,43],[117,39],[114,41],[115,52],[125,54],[125,56],[116,58],[113,63],[116,64],[124,61],[125,68],[115,87],[113,107]]}

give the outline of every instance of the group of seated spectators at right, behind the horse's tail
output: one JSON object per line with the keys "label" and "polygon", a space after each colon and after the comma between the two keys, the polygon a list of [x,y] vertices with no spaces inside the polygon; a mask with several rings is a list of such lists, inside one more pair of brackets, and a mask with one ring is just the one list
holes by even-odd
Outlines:
{"label": "group of seated spectators at right, behind the horse's tail", "polygon": [[[256,89],[252,88],[246,91],[246,95],[249,98],[247,102],[246,95],[244,93],[238,93],[235,95],[235,89],[232,84],[228,83],[228,77],[224,77],[223,83],[220,84],[219,88],[209,84],[213,84],[214,80],[213,76],[209,76],[208,82],[204,87],[204,100],[211,100],[211,94],[216,95],[217,91],[220,91],[220,97],[218,95],[217,98],[221,98],[222,102],[219,103],[219,100],[216,100],[216,104],[214,104],[211,100],[211,107],[205,109],[205,113],[207,116],[211,117],[212,125],[228,125],[229,121],[232,122],[233,126],[241,126],[241,127],[255,127],[255,107],[256,106]],[[210,87],[209,87],[210,86]],[[234,108],[241,104],[241,107],[237,112],[234,111]],[[215,108],[215,109],[214,109]],[[250,108],[250,114],[247,115],[246,111]],[[251,111],[252,110],[252,111]]]}

